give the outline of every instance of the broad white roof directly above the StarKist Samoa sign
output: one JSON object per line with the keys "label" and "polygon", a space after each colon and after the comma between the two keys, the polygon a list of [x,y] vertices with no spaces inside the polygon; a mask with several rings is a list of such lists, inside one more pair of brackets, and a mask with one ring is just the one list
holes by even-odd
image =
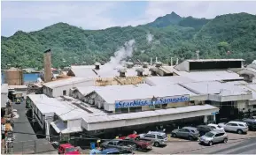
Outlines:
{"label": "broad white roof directly above the StarKist Samoa sign", "polygon": [[196,95],[180,85],[149,86],[149,87],[112,87],[109,89],[97,89],[95,92],[107,103],[114,103],[115,100],[135,100],[148,99],[155,97],[177,96],[177,95]]}

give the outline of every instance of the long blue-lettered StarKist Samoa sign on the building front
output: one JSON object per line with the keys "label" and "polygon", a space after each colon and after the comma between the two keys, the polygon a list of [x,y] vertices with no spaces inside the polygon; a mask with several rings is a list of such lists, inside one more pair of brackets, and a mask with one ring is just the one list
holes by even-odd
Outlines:
{"label": "long blue-lettered StarKist Samoa sign on the building front", "polygon": [[190,101],[190,95],[155,98],[154,101],[152,100],[152,98],[144,100],[116,100],[115,108],[153,106],[186,101]]}

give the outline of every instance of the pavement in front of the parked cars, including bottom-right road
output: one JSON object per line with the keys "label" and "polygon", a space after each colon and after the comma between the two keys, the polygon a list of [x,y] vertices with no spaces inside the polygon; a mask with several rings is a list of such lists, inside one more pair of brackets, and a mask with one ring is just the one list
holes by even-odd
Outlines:
{"label": "pavement in front of the parked cars, including bottom-right road", "polygon": [[[227,144],[207,146],[199,144],[198,141],[171,138],[167,146],[153,147],[148,152],[136,151],[136,154],[227,154],[229,151],[234,151],[232,154],[237,154],[240,151],[241,153],[244,151],[245,154],[250,154],[250,152],[256,154],[256,150],[253,148],[256,148],[256,132],[249,131],[247,135],[236,133],[227,134],[229,136],[229,142]],[[248,139],[249,137],[254,138]]]}

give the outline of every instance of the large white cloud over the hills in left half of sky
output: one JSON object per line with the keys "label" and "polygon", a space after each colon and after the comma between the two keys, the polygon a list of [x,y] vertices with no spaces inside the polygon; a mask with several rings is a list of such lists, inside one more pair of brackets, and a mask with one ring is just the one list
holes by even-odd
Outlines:
{"label": "large white cloud over the hills in left half of sky", "polygon": [[117,24],[105,12],[116,7],[116,3],[72,3],[44,2],[27,3],[26,7],[9,3],[2,6],[2,18],[24,18],[53,23],[62,21],[87,29],[102,29]]}

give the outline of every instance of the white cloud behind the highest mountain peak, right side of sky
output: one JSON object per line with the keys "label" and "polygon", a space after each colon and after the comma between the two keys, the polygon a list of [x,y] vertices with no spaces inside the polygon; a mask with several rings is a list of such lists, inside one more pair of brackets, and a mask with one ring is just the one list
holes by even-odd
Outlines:
{"label": "white cloud behind the highest mountain peak, right side of sky", "polygon": [[185,2],[149,2],[145,17],[153,20],[175,11],[182,17],[214,18],[217,15],[247,12],[256,14],[256,2],[244,1],[185,1]]}

